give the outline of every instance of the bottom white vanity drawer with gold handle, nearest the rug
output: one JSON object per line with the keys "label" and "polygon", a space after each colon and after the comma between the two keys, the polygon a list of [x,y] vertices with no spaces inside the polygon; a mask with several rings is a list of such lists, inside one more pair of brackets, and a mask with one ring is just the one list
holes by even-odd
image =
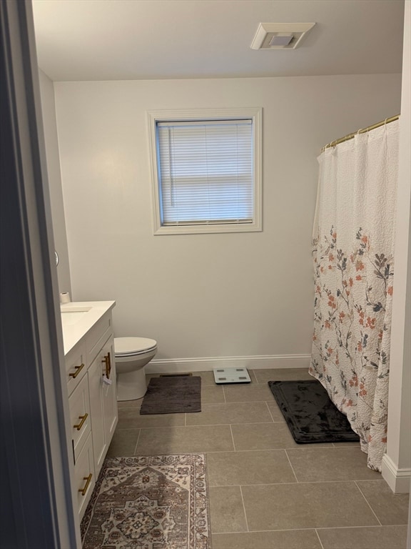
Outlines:
{"label": "bottom white vanity drawer with gold handle, nearest the rug", "polygon": [[91,493],[93,493],[93,488],[96,485],[91,433],[88,434],[86,443],[78,455],[76,467],[74,468],[73,483],[77,494],[78,518],[81,520],[87,503],[91,498]]}

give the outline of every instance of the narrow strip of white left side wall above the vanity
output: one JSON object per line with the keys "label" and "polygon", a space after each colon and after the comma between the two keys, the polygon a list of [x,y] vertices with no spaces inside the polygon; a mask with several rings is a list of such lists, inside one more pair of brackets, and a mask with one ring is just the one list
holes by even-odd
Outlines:
{"label": "narrow strip of white left side wall above the vanity", "polygon": [[54,85],[49,79],[49,76],[46,76],[41,70],[39,70],[39,81],[41,91],[41,114],[43,117],[44,141],[46,144],[47,174],[49,176],[51,217],[53,219],[54,246],[59,254],[59,266],[57,267],[59,290],[60,292],[71,292],[63,192],[61,189]]}

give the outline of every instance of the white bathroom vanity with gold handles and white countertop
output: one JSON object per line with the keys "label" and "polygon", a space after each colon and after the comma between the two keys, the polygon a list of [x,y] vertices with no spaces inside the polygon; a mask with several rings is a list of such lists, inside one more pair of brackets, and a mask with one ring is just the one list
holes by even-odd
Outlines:
{"label": "white bathroom vanity with gold handles and white countertop", "polygon": [[61,305],[73,493],[86,510],[118,422],[112,310],[116,302]]}

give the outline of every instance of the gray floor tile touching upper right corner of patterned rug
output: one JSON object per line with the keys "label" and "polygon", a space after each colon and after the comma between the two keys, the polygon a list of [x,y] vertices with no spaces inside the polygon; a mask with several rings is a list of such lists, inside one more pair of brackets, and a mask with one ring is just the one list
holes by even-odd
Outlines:
{"label": "gray floor tile touching upper right corner of patterned rug", "polygon": [[297,482],[284,450],[214,452],[207,469],[210,486]]}

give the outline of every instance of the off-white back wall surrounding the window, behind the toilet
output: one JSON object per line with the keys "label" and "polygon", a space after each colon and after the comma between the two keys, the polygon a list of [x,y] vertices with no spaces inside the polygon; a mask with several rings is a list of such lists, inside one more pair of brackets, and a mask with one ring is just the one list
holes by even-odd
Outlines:
{"label": "off-white back wall surrounding the window, behind the toilet", "polygon": [[[157,359],[308,365],[320,147],[400,112],[401,75],[55,83],[73,300]],[[263,107],[263,232],[153,236],[146,110]],[[301,360],[275,361],[277,357]]]}

